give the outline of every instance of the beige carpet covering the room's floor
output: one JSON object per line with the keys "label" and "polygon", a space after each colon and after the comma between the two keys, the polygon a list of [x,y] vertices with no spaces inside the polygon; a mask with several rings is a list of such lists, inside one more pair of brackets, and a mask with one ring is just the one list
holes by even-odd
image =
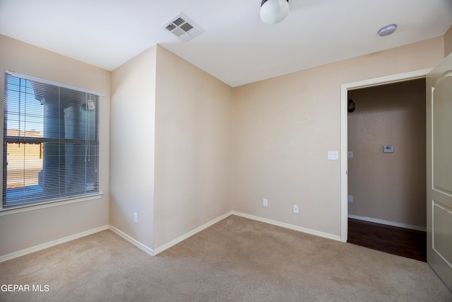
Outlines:
{"label": "beige carpet covering the room's floor", "polygon": [[30,285],[0,301],[452,301],[424,262],[239,216],[155,257],[103,231],[0,273],[0,284]]}

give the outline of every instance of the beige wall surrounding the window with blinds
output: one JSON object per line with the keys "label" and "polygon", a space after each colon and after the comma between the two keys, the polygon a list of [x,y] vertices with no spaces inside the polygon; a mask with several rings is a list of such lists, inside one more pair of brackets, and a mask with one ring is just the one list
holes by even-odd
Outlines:
{"label": "beige wall surrounding the window with blinds", "polygon": [[[99,182],[103,196],[100,199],[16,214],[1,212],[0,256],[4,256],[108,225],[110,73],[4,35],[0,35],[0,45],[1,71],[9,69],[19,74],[107,94],[100,99]],[[0,83],[0,95],[4,95],[3,72],[0,74]]]}

